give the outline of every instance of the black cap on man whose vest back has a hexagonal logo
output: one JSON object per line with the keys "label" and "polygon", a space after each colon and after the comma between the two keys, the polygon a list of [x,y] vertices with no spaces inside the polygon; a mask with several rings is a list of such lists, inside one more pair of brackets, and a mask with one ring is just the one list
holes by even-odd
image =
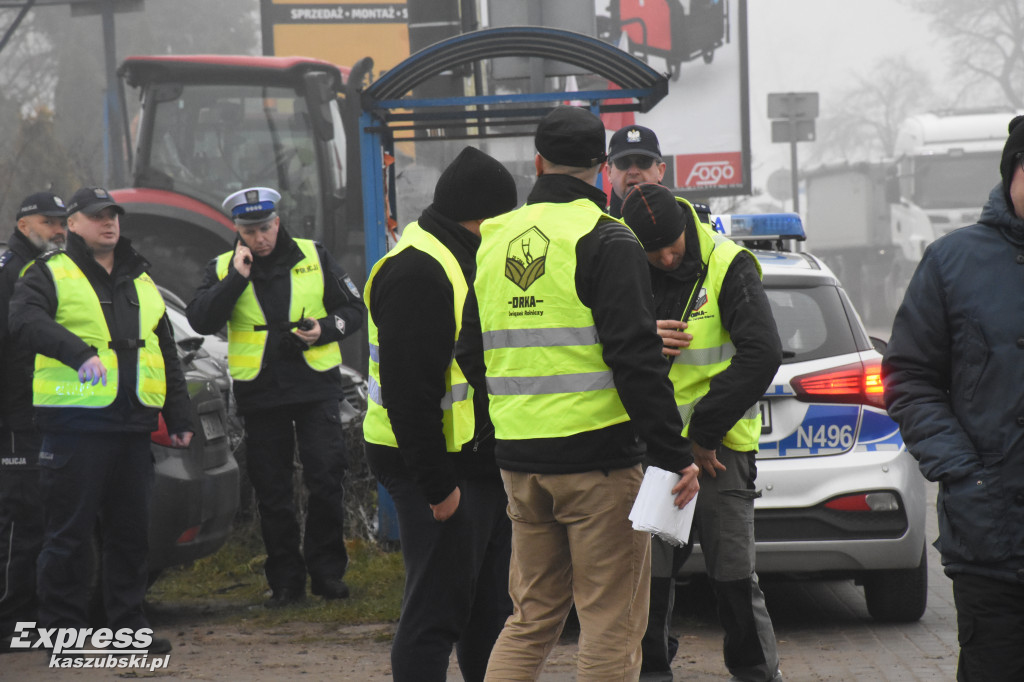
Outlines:
{"label": "black cap on man whose vest back has a hexagonal logo", "polygon": [[534,144],[553,164],[592,168],[605,160],[604,124],[579,106],[556,106],[537,126]]}

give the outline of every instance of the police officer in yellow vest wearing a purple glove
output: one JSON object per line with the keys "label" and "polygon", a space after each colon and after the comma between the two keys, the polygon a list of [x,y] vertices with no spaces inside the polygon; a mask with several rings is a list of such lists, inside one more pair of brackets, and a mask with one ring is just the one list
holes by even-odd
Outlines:
{"label": "police officer in yellow vest wearing a purple glove", "polygon": [[[148,263],[121,238],[124,209],[101,187],[68,202],[67,250],[26,270],[11,333],[36,353],[33,402],[43,433],[39,626],[88,622],[98,520],[106,627],[148,628],[150,433],[163,412],[171,441],[191,440],[191,404],[164,301]],[[170,650],[154,640],[150,653]]]}

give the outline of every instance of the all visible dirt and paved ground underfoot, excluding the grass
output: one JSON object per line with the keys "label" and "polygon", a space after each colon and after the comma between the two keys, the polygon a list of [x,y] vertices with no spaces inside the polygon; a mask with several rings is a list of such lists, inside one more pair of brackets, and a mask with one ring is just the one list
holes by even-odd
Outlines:
{"label": "all visible dirt and paved ground underfoot, excluding the grass", "polygon": [[[937,535],[935,486],[929,486],[928,539]],[[949,580],[929,546],[929,603],[920,622],[876,624],[863,592],[852,582],[762,581],[779,640],[782,674],[788,682],[854,680],[948,681],[955,677],[956,620]],[[254,606],[253,608],[258,608]],[[130,678],[280,682],[342,680],[388,682],[394,624],[334,626],[314,622],[272,628],[245,619],[221,623],[204,611],[162,605],[151,610],[158,634],[171,637],[168,667],[145,670],[48,669],[42,652],[0,656],[0,680],[17,682]],[[726,680],[722,632],[714,603],[699,583],[678,593],[673,624],[681,642],[675,679]],[[539,682],[575,679],[575,633],[557,644]],[[462,680],[455,656],[449,680]]]}

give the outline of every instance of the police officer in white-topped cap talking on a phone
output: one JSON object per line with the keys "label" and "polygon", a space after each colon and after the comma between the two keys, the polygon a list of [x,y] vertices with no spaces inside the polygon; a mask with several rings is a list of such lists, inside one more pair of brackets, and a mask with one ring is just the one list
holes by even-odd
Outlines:
{"label": "police officer in white-topped cap talking on a phone", "polygon": [[[200,334],[227,325],[232,390],[246,425],[249,478],[256,491],[272,596],[268,607],[344,599],[344,430],[339,342],[362,325],[358,289],[319,244],[281,224],[281,195],[249,187],[224,200],[239,240],[214,258],[187,306]],[[292,488],[295,441],[309,491],[299,547]]]}

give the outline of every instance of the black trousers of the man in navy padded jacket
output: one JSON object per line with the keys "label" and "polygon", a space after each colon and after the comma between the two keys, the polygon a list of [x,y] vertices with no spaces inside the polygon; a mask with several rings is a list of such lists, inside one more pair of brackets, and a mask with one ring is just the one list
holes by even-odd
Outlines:
{"label": "black trousers of the man in navy padded jacket", "polygon": [[1024,680],[1024,583],[956,573],[957,682]]}

